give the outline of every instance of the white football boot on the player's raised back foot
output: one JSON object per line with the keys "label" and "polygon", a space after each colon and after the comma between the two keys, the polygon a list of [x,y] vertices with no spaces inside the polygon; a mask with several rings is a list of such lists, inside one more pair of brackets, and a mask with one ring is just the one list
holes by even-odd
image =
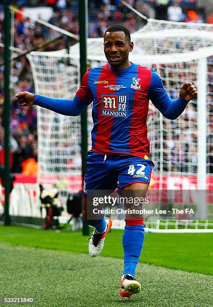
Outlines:
{"label": "white football boot on the player's raised back foot", "polygon": [[91,235],[91,238],[89,240],[89,255],[91,257],[96,257],[103,249],[105,236],[108,234],[113,224],[112,220],[106,222],[107,222],[107,230],[103,234],[97,233],[96,230],[94,230]]}

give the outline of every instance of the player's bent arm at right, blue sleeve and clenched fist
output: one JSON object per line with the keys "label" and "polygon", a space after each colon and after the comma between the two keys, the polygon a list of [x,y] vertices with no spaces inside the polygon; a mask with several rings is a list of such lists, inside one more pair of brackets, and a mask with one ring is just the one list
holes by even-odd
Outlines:
{"label": "player's bent arm at right, blue sleeve and clenched fist", "polygon": [[181,87],[179,98],[172,100],[164,89],[161,78],[152,70],[152,79],[148,96],[158,110],[168,119],[176,119],[184,111],[187,103],[196,98],[197,89],[190,83],[185,82]]}

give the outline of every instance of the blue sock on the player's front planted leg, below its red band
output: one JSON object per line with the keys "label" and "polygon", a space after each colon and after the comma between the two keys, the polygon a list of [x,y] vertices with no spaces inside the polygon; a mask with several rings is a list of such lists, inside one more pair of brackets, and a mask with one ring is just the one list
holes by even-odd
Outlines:
{"label": "blue sock on the player's front planted leg, below its red band", "polygon": [[144,225],[125,226],[123,235],[124,275],[135,275],[144,243]]}

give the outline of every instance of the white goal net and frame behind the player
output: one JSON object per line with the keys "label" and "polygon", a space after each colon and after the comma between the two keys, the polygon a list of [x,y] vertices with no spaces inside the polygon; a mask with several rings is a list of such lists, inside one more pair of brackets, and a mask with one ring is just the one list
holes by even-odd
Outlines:
{"label": "white goal net and frame behind the player", "polygon": [[[147,217],[146,225],[153,231],[188,231],[190,228],[210,231],[213,228],[210,195],[213,185],[213,26],[149,19],[144,28],[132,34],[132,41],[134,50],[130,60],[153,66],[171,98],[179,96],[185,81],[193,82],[198,88],[197,100],[191,101],[176,120],[164,118],[150,102],[148,136],[155,169],[149,189],[207,191],[201,206],[200,200],[184,196],[182,203],[190,202],[196,208],[197,215],[192,218],[187,215],[177,215],[175,220]],[[99,38],[87,39],[88,67],[106,63],[102,43]],[[32,52],[28,58],[37,93],[73,98],[80,85],[78,43],[70,48],[69,54],[66,50]],[[67,191],[81,189],[80,116],[63,116],[44,108],[37,111],[38,182],[54,185],[56,181],[63,181],[66,184],[62,195],[66,197]],[[89,148],[91,128],[89,106]],[[121,224],[118,221],[118,226]]]}

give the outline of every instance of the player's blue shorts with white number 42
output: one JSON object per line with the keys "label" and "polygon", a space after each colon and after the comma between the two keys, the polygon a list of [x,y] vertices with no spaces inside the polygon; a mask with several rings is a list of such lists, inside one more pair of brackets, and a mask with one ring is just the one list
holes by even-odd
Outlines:
{"label": "player's blue shorts with white number 42", "polygon": [[89,150],[83,192],[123,189],[133,183],[149,184],[154,163],[128,155],[101,155]]}

